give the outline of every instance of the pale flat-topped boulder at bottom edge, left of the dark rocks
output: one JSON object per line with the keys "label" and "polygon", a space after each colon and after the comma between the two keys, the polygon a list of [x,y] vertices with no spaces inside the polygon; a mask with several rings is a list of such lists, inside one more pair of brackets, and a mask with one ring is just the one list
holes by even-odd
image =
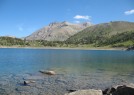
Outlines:
{"label": "pale flat-topped boulder at bottom edge, left of the dark rocks", "polygon": [[102,91],[101,90],[94,90],[94,89],[78,90],[78,91],[68,93],[65,95],[102,95]]}

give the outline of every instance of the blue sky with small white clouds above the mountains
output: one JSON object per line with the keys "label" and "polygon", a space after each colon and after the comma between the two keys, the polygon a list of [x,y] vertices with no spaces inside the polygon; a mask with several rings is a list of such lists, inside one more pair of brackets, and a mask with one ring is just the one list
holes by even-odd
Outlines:
{"label": "blue sky with small white clouds above the mountains", "polygon": [[134,22],[134,0],[0,0],[0,36],[25,37],[51,22]]}

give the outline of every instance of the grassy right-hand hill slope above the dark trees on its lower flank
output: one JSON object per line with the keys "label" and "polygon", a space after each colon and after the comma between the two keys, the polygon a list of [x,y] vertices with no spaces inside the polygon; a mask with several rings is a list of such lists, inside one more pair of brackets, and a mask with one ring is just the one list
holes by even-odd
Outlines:
{"label": "grassy right-hand hill slope above the dark trees on its lower flank", "polygon": [[[133,22],[114,21],[114,22],[109,22],[109,23],[102,23],[102,24],[97,24],[97,25],[88,27],[80,31],[79,33],[67,39],[66,43],[97,44],[97,45],[107,43],[108,45],[107,40],[110,41],[112,39],[115,39],[115,37],[118,37],[121,35],[126,35],[126,36],[121,36],[121,37],[127,37],[128,34],[126,32],[133,32],[133,30],[134,30]],[[125,34],[122,34],[122,33],[125,33]],[[114,35],[117,35],[117,36],[114,37]]]}

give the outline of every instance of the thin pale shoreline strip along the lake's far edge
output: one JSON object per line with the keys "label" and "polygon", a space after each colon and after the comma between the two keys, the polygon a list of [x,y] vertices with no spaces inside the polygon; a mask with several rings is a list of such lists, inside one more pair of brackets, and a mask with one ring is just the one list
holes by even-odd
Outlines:
{"label": "thin pale shoreline strip along the lake's far edge", "polygon": [[108,47],[17,47],[17,46],[0,46],[0,48],[16,48],[16,49],[57,49],[57,50],[126,50],[127,48],[108,48]]}

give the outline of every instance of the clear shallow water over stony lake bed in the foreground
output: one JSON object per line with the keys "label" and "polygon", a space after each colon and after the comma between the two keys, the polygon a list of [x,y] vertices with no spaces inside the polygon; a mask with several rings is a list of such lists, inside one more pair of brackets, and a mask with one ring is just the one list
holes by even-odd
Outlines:
{"label": "clear shallow water over stony lake bed in the foreground", "polygon": [[[24,81],[31,82],[25,85]],[[107,88],[116,85],[128,85],[133,81],[133,78],[126,81],[119,75],[114,75],[114,77],[105,75],[104,77],[101,74],[82,74],[79,76],[65,74],[45,75],[41,73],[0,75],[0,95],[65,95],[65,93],[66,95],[76,95],[70,93],[87,89],[105,91]]]}

